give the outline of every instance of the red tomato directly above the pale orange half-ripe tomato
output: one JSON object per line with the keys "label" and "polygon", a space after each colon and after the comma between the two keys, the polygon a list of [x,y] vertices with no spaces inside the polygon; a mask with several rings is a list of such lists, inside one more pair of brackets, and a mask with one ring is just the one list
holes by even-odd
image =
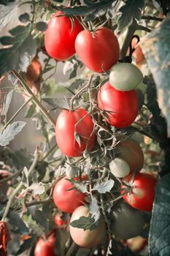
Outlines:
{"label": "red tomato directly above the pale orange half-ripe tomato", "polygon": [[[78,192],[77,189],[72,189],[74,186],[70,181],[66,180],[66,178],[66,176],[61,178],[55,185],[53,190],[53,200],[55,206],[57,206],[59,210],[72,214],[75,208],[82,206],[82,204],[85,203],[85,197],[87,197],[87,195]],[[82,180],[85,179],[86,177],[82,176]]]}

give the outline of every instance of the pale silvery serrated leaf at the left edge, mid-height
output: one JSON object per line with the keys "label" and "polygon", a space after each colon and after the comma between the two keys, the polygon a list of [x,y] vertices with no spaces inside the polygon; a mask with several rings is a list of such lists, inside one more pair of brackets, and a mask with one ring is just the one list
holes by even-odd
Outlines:
{"label": "pale silvery serrated leaf at the left edge, mid-height", "polygon": [[12,124],[9,124],[6,129],[3,130],[0,134],[0,145],[7,146],[11,140],[15,138],[15,135],[18,135],[20,131],[25,127],[26,122],[16,121]]}

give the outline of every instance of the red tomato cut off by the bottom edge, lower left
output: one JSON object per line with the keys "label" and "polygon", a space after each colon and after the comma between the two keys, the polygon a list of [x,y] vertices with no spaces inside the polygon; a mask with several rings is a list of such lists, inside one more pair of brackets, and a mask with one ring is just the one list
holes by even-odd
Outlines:
{"label": "red tomato cut off by the bottom edge, lower left", "polygon": [[55,233],[51,232],[46,238],[39,238],[34,249],[35,256],[57,256],[54,252]]}

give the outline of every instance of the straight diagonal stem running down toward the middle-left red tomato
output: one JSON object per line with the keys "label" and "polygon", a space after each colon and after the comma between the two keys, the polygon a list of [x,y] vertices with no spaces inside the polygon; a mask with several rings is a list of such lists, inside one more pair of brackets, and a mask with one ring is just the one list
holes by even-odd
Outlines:
{"label": "straight diagonal stem running down toward the middle-left red tomato", "polygon": [[53,127],[55,127],[55,120],[53,119],[52,116],[50,116],[50,114],[47,112],[47,110],[45,109],[45,107],[42,105],[41,102],[39,102],[39,100],[36,98],[36,96],[34,95],[34,93],[31,91],[31,89],[29,89],[27,83],[25,80],[23,80],[23,78],[21,77],[21,75],[13,70],[12,73],[15,75],[16,78],[18,78],[18,80],[20,81],[20,83],[22,84],[23,88],[26,89],[26,91],[28,92],[28,94],[31,95],[33,101],[36,103],[36,105],[39,107],[39,109],[42,111],[42,113],[46,116],[46,118],[50,121],[50,123],[53,125]]}

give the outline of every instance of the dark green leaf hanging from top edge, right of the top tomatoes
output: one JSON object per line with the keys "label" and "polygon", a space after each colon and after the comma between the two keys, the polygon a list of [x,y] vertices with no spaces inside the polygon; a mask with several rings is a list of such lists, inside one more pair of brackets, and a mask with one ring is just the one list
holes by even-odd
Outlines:
{"label": "dark green leaf hanging from top edge, right of the top tomatoes", "polygon": [[142,8],[144,8],[144,0],[127,0],[119,12],[122,12],[118,19],[118,30],[125,29],[133,20],[141,19]]}

